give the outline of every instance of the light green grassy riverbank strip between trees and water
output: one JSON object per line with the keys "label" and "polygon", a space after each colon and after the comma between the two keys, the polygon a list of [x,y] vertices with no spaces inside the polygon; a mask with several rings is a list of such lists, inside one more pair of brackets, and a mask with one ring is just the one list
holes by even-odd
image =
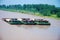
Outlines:
{"label": "light green grassy riverbank strip between trees and water", "polygon": [[53,18],[53,19],[60,20],[60,18],[58,18],[56,15],[43,16],[39,12],[31,12],[31,11],[26,11],[26,10],[14,10],[14,9],[0,9],[0,10],[18,12],[18,13],[29,14],[29,15],[39,16],[39,17],[41,16],[41,17],[44,17],[44,18]]}

